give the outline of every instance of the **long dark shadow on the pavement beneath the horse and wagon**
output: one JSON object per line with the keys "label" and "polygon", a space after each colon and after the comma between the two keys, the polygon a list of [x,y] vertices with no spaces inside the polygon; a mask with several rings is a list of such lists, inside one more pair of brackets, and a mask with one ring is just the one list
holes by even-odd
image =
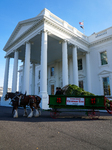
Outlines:
{"label": "long dark shadow on the pavement beneath the horse and wagon", "polygon": [[[66,112],[65,112],[66,111]],[[41,116],[35,118],[27,118],[23,117],[23,108],[18,109],[18,118],[13,118],[12,116],[12,107],[0,106],[0,121],[19,121],[19,122],[65,122],[65,121],[98,121],[98,120],[112,120],[112,115],[104,112],[100,112],[100,117],[98,119],[90,119],[86,112],[77,112],[77,110],[73,110],[73,112],[68,112],[71,110],[64,110],[60,113],[60,115],[53,119],[50,116],[50,111],[41,111]],[[28,114],[30,113],[30,109],[27,109]]]}

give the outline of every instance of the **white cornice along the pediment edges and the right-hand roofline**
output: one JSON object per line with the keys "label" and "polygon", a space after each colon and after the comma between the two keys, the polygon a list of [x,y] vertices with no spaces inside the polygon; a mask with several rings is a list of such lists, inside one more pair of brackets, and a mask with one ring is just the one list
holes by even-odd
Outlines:
{"label": "white cornice along the pediment edges and the right-hand roofline", "polygon": [[[10,43],[21,26],[24,26],[27,23],[30,24],[31,22],[34,22],[34,21],[35,21],[34,25],[32,25],[28,30],[26,30],[22,35],[20,35],[20,37],[18,37],[15,41]],[[80,36],[78,36],[76,33],[72,32],[71,30],[65,28],[60,23],[58,23],[55,20],[51,19],[50,17],[40,16],[40,17],[35,17],[35,18],[32,18],[32,19],[28,19],[28,20],[19,22],[17,24],[15,30],[13,31],[11,37],[9,38],[8,42],[6,43],[3,50],[8,51],[10,48],[15,46],[17,43],[21,42],[21,40],[23,40],[29,34],[31,34],[31,32],[33,32],[37,27],[41,26],[43,22],[47,23],[50,26],[53,26],[58,31],[61,31],[65,34],[68,34],[71,37],[71,40],[75,40],[75,41],[79,42],[80,44],[82,44],[84,46],[87,46],[88,48],[90,48],[92,46],[95,46],[95,45],[98,45],[98,44],[101,44],[101,43],[104,43],[106,41],[112,40],[112,35],[110,35],[108,37],[100,38],[99,40],[96,39],[96,41],[90,43],[87,40],[85,40],[85,39],[81,38]],[[69,39],[66,39],[66,40],[69,40]]]}

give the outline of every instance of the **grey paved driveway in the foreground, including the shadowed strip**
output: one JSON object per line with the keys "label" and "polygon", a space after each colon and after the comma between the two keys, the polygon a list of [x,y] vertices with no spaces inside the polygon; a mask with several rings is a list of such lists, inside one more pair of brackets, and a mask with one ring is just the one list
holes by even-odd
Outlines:
{"label": "grey paved driveway in the foreground, including the shadowed strip", "polygon": [[39,118],[26,118],[19,109],[14,119],[11,109],[0,107],[0,150],[112,150],[112,115],[91,120],[73,112],[52,119],[42,111]]}

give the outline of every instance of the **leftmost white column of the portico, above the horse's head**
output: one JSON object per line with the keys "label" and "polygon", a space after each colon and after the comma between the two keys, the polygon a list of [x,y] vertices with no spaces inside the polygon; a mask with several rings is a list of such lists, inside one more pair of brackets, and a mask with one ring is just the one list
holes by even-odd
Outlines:
{"label": "leftmost white column of the portico, above the horse's head", "polygon": [[9,61],[10,61],[10,58],[6,57],[5,74],[4,74],[4,86],[3,86],[3,96],[5,96],[5,94],[7,93],[7,88],[8,88]]}

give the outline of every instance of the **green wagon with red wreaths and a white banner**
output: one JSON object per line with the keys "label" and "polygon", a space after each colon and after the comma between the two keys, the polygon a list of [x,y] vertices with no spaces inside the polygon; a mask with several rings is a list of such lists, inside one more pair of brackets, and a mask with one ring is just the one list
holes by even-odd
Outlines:
{"label": "green wagon with red wreaths and a white banner", "polygon": [[112,102],[105,96],[49,95],[49,107],[52,118],[59,116],[62,109],[83,110],[91,119],[99,118],[99,110],[112,114]]}

